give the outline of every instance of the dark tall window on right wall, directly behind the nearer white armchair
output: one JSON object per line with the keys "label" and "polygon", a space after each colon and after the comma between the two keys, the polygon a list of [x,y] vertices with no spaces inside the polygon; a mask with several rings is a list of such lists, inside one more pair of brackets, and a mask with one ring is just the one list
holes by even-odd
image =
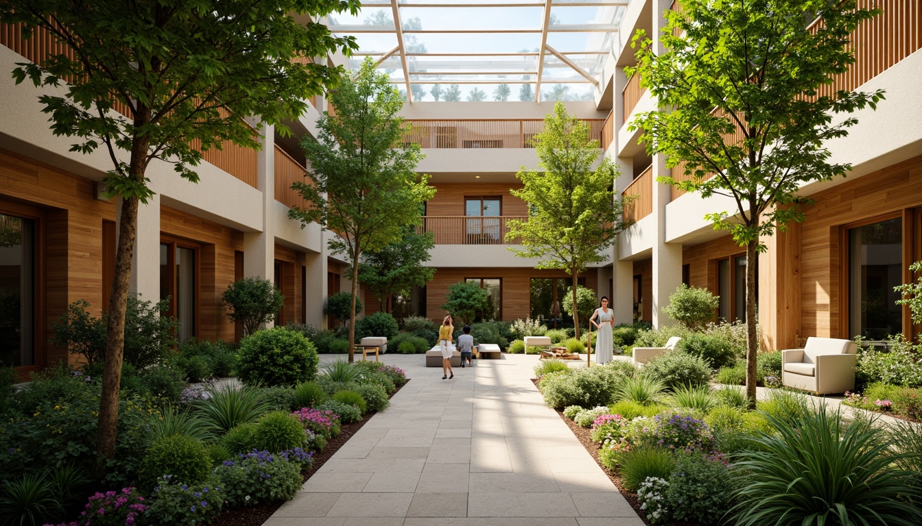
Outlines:
{"label": "dark tall window on right wall, directly behind the nearer white armchair", "polygon": [[903,331],[903,221],[848,228],[848,335],[881,340]]}

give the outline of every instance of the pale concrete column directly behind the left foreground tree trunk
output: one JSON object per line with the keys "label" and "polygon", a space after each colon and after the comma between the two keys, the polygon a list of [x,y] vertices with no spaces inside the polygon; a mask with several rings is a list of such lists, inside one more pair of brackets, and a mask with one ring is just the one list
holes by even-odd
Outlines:
{"label": "pale concrete column directly behind the left foreground tree trunk", "polygon": [[[115,206],[115,235],[121,228],[121,200]],[[116,241],[117,242],[117,241]],[[154,194],[147,205],[137,207],[137,237],[131,260],[129,294],[140,294],[145,301],[160,301],[160,194]],[[104,286],[112,286],[111,283]]]}

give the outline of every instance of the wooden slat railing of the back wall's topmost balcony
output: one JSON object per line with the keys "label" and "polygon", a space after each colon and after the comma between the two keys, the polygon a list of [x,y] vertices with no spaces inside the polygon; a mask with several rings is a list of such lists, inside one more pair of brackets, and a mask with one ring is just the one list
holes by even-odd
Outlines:
{"label": "wooden slat railing of the back wall's topmost balcony", "polygon": [[[602,142],[603,119],[584,119],[589,134]],[[544,131],[542,119],[430,120],[408,119],[405,143],[421,148],[533,148],[535,135]]]}

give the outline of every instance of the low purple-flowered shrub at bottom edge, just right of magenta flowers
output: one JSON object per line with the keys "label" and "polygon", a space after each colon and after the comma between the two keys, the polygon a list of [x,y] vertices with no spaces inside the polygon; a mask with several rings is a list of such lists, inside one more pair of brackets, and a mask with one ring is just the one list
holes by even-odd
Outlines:
{"label": "low purple-flowered shrub at bottom edge, just right of magenta flowers", "polygon": [[161,478],[154,488],[148,521],[164,526],[210,524],[216,520],[224,506],[224,492],[220,485],[176,485]]}

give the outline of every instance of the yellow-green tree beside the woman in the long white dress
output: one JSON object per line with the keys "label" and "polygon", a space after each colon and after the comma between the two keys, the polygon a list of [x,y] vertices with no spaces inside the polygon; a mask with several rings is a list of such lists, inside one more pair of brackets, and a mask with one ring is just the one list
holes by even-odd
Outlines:
{"label": "yellow-green tree beside the woman in the long white dress", "polygon": [[[576,278],[588,263],[605,261],[603,251],[624,229],[621,202],[611,191],[618,170],[611,159],[599,157],[597,140],[589,139],[589,126],[567,114],[562,102],[544,118],[544,131],[536,135],[538,167],[544,171],[520,169],[517,177],[525,185],[514,196],[530,207],[526,221],[508,222],[506,240],[521,238],[524,249],[510,247],[515,255],[538,258],[535,268],[566,271]],[[573,315],[579,338],[579,315]]]}

